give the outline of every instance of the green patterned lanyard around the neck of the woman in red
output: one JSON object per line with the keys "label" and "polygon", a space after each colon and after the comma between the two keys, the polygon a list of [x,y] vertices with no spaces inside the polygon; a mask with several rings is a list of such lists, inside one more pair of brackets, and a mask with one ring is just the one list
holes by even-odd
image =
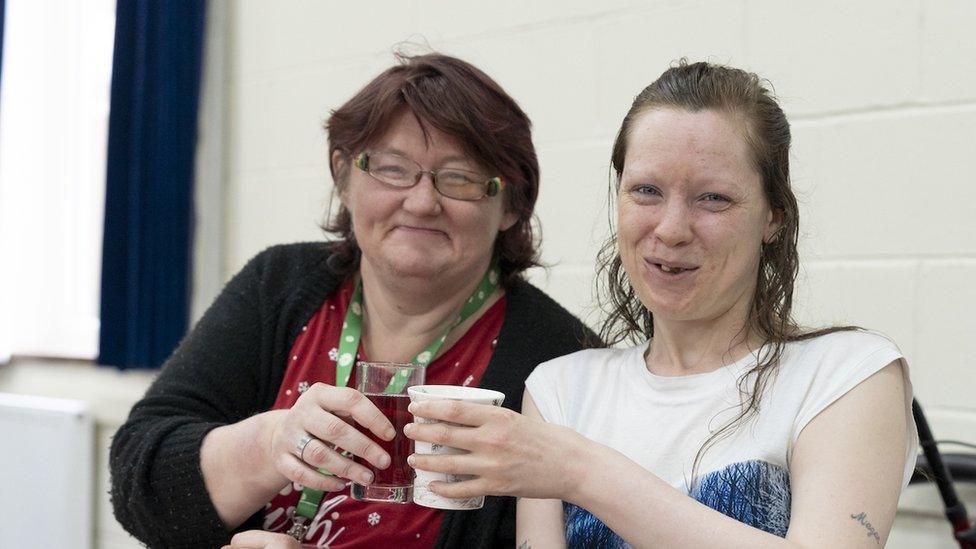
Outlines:
{"label": "green patterned lanyard around the neck of the woman in red", "polygon": [[[437,356],[437,351],[444,345],[444,341],[447,340],[447,335],[451,330],[480,309],[491,294],[495,292],[497,287],[498,265],[493,263],[488,268],[488,271],[485,272],[485,276],[478,283],[478,287],[474,289],[471,297],[464,302],[464,305],[461,307],[461,312],[454,319],[454,322],[451,322],[451,325],[447,327],[447,330],[440,337],[435,338],[423,351],[417,353],[417,356],[410,362],[420,366],[427,366]],[[352,299],[349,301],[349,308],[346,310],[346,318],[342,323],[342,332],[339,334],[339,355],[336,357],[336,387],[345,387],[349,384],[349,376],[352,374],[352,367],[356,362],[356,354],[359,351],[359,340],[362,338],[362,335],[363,283],[359,281],[356,283],[356,289],[353,290]],[[386,392],[398,394],[403,391],[404,383],[406,383],[406,379],[394,378],[390,380]],[[349,457],[349,454],[346,452],[343,452],[343,455]],[[319,472],[323,475],[332,475],[332,473],[324,469],[319,469]],[[315,518],[323,495],[324,493],[321,490],[313,490],[308,487],[302,488],[302,496],[298,500],[298,506],[295,508],[294,525],[288,531],[289,535],[299,541],[304,539],[305,532],[308,531],[309,526],[307,522]]]}

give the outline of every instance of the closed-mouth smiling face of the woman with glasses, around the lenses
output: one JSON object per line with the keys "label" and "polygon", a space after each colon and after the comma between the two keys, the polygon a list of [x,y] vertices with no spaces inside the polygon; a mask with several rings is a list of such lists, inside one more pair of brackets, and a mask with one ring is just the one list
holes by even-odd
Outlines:
{"label": "closed-mouth smiling face of the woman with glasses, around the lenses", "polygon": [[[397,153],[426,170],[485,172],[449,136],[429,126],[427,130],[425,138],[416,117],[405,111],[370,150]],[[332,161],[335,165],[349,159],[337,152]],[[430,281],[479,278],[491,262],[499,231],[516,221],[515,214],[505,211],[504,192],[470,202],[439,194],[429,174],[413,187],[398,188],[353,166],[334,171],[348,173],[339,198],[352,216],[362,261],[387,275]]]}

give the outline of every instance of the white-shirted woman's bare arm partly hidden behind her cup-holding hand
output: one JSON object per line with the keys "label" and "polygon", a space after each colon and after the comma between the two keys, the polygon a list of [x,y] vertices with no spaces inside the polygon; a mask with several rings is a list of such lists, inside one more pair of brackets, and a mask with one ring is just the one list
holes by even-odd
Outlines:
{"label": "white-shirted woman's bare arm partly hidden behind her cup-holding hand", "polygon": [[[544,421],[528,390],[522,396],[522,414],[528,418]],[[516,547],[520,549],[566,547],[562,501],[520,498],[515,519]]]}

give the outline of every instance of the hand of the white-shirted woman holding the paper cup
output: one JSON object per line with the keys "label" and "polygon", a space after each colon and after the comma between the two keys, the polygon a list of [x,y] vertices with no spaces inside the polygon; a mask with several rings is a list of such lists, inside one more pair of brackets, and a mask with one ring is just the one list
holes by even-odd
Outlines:
{"label": "hand of the white-shirted woman holding the paper cup", "polygon": [[586,447],[592,445],[566,427],[528,418],[506,408],[455,400],[414,402],[410,413],[446,423],[410,423],[413,440],[467,450],[461,455],[413,454],[415,469],[474,475],[455,483],[432,482],[434,493],[448,498],[506,495],[571,500],[586,472]]}

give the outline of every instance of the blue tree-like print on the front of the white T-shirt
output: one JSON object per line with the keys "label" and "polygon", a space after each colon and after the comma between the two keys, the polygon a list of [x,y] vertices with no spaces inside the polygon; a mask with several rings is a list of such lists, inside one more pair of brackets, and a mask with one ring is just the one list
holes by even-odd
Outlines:
{"label": "blue tree-like print on the front of the white T-shirt", "polygon": [[[780,537],[790,526],[790,473],[754,459],[703,476],[692,497],[740,522]],[[625,549],[625,542],[589,511],[563,503],[566,544],[571,548]]]}

